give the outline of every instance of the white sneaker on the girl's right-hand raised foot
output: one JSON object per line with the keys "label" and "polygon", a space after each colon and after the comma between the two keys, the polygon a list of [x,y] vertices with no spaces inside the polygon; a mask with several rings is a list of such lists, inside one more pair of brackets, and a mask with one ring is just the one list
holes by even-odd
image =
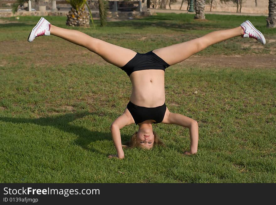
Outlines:
{"label": "white sneaker on the girl's right-hand raised foot", "polygon": [[241,37],[256,39],[263,45],[266,43],[263,34],[257,30],[250,21],[246,20],[243,22],[241,28],[243,29],[243,35]]}

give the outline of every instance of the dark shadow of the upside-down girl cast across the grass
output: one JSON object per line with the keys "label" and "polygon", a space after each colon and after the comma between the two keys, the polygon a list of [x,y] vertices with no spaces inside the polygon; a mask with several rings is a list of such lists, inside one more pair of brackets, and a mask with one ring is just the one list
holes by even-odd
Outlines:
{"label": "dark shadow of the upside-down girl cast across the grass", "polygon": [[[87,115],[100,115],[102,113],[93,112],[93,113],[67,113],[64,115],[54,116],[54,117],[43,117],[43,118],[7,118],[2,117],[0,121],[15,123],[15,124],[36,124],[40,126],[51,126],[62,130],[64,132],[75,134],[78,136],[76,140],[74,140],[74,144],[81,146],[83,149],[98,152],[100,154],[109,155],[112,153],[103,153],[102,151],[96,150],[94,148],[88,147],[91,142],[99,141],[99,140],[112,140],[111,133],[103,133],[98,131],[91,131],[81,126],[72,125],[70,122],[82,118]],[[93,122],[92,122],[93,123]],[[128,140],[129,136],[122,135],[122,141]]]}

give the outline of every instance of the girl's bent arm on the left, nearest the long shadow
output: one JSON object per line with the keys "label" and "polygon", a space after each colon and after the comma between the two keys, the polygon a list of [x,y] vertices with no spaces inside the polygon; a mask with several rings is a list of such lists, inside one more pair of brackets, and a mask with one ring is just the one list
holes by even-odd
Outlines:
{"label": "girl's bent arm on the left, nearest the long shadow", "polygon": [[125,158],[125,154],[122,148],[120,129],[133,123],[134,123],[134,120],[130,112],[126,108],[125,112],[111,124],[110,131],[111,131],[114,146],[117,150],[117,155],[109,155],[108,156],[109,158],[112,158],[112,157],[117,157],[119,159]]}

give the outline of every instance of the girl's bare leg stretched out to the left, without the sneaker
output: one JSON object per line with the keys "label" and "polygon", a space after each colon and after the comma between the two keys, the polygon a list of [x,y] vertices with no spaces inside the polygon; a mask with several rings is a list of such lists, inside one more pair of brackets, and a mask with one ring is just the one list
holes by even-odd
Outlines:
{"label": "girl's bare leg stretched out to the left, without the sneaker", "polygon": [[63,29],[51,25],[50,33],[76,45],[87,48],[100,55],[105,61],[117,67],[124,66],[136,55],[136,52],[133,50],[104,42],[77,30]]}

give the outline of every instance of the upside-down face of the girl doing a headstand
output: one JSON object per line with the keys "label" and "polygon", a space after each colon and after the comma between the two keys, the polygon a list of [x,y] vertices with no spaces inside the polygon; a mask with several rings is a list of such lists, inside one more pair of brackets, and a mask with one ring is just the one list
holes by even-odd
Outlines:
{"label": "upside-down face of the girl doing a headstand", "polygon": [[154,134],[152,128],[139,128],[136,141],[141,146],[141,148],[149,150],[153,147]]}

